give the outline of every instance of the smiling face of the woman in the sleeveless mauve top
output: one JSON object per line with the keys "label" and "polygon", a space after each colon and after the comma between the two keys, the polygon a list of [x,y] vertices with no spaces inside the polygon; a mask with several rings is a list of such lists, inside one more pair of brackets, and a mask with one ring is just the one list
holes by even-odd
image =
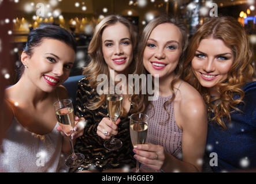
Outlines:
{"label": "smiling face of the woman in the sleeveless mauve top", "polygon": [[177,26],[164,23],[156,26],[147,40],[143,64],[153,76],[169,79],[179,63],[182,51],[181,33]]}

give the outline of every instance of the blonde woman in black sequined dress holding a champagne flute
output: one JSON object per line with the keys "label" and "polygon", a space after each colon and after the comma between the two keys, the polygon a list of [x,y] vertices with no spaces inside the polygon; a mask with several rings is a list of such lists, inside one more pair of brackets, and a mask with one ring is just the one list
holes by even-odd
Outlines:
{"label": "blonde woman in black sequined dress holding a champagne flute", "polygon": [[[135,166],[129,136],[128,116],[133,112],[131,99],[128,94],[123,95],[120,118],[112,122],[107,114],[106,95],[97,93],[97,86],[102,82],[97,81],[100,74],[105,74],[110,82],[117,74],[128,79],[128,74],[133,73],[135,37],[132,24],[121,16],[107,16],[95,29],[88,47],[91,62],[84,68],[86,77],[79,81],[76,97],[77,116],[87,120],[84,135],[75,146],[87,158],[78,171],[123,171],[123,168]],[[117,151],[109,151],[103,145],[112,135],[123,142]]]}

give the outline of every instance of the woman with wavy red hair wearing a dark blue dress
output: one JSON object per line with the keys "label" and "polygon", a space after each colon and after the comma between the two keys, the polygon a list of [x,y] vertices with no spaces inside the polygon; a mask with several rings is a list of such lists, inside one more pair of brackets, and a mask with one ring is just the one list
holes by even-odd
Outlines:
{"label": "woman with wavy red hair wearing a dark blue dress", "polygon": [[205,99],[206,155],[215,153],[211,166],[216,172],[256,168],[256,82],[250,57],[248,36],[232,17],[207,21],[188,47],[184,79]]}

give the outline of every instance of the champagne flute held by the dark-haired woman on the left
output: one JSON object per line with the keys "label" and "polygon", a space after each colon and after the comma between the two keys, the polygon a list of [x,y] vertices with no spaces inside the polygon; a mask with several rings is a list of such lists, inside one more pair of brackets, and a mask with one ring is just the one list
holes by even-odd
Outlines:
{"label": "champagne flute held by the dark-haired woman on the left", "polygon": [[70,99],[61,99],[54,103],[55,114],[57,121],[66,136],[69,137],[69,142],[71,144],[72,154],[68,156],[65,160],[65,164],[68,167],[79,166],[83,160],[84,155],[76,153],[73,148],[72,133],[74,132],[75,127],[75,114],[72,101]]}

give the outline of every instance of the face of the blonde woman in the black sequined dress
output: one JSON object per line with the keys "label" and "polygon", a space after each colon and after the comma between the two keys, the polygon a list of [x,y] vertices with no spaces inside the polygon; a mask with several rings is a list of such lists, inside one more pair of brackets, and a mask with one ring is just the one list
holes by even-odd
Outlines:
{"label": "face of the blonde woman in the black sequined dress", "polygon": [[131,36],[127,26],[117,22],[102,33],[102,53],[109,70],[123,73],[133,59]]}

